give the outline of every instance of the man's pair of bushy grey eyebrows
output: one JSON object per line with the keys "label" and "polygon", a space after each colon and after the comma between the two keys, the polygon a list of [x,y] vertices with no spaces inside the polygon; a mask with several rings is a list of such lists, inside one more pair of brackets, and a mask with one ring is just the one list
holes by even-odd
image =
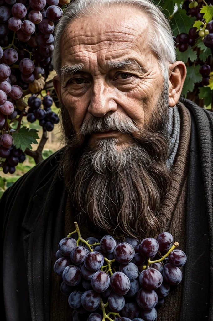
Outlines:
{"label": "man's pair of bushy grey eyebrows", "polygon": [[[147,73],[148,70],[141,66],[139,63],[137,63],[136,60],[134,59],[125,59],[122,61],[107,61],[107,67],[110,69],[122,69],[124,67],[129,67],[130,69],[137,71],[139,73]],[[84,64],[75,64],[75,65],[64,65],[60,69],[60,76],[62,77],[63,80],[66,79],[67,76],[71,76],[72,74],[75,74],[79,71],[82,71],[84,68]]]}

